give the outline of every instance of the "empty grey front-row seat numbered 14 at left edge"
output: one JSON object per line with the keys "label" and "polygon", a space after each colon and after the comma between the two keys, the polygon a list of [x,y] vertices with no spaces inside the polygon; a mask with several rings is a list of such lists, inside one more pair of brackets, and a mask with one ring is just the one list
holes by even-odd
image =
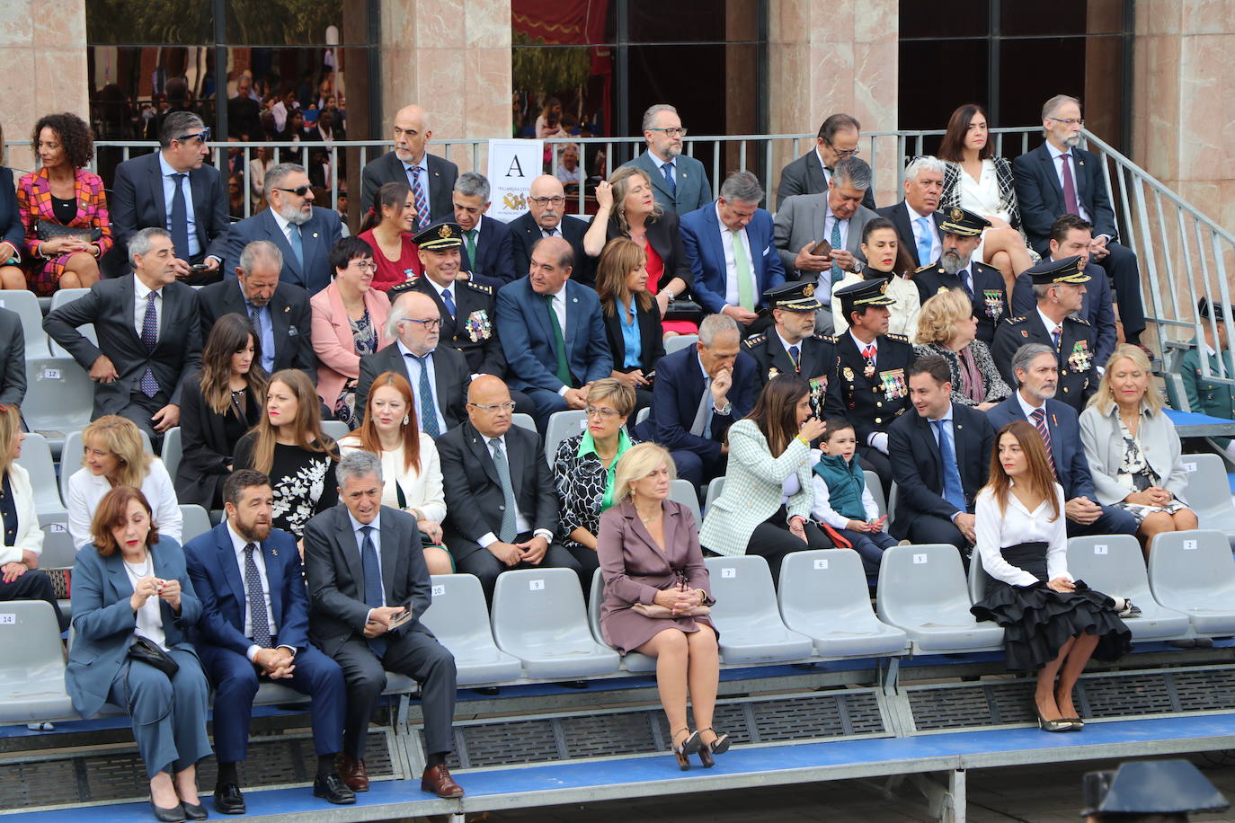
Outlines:
{"label": "empty grey front-row seat numbered 14 at left edge", "polygon": [[61,627],[51,603],[0,603],[0,723],[30,723],[73,716],[64,691]]}

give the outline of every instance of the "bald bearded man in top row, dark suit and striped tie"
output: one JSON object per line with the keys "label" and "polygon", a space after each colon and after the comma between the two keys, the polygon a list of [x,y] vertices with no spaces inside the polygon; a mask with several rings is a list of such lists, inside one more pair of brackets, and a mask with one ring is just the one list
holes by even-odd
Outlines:
{"label": "bald bearded man in top row, dark suit and striped tie", "polygon": [[[387,183],[406,183],[416,202],[416,228],[435,220],[452,218],[451,192],[459,175],[450,160],[425,151],[433,136],[429,112],[416,105],[404,106],[394,116],[394,151],[364,167],[361,211],[373,206],[373,197]],[[375,211],[380,212],[380,205]]]}

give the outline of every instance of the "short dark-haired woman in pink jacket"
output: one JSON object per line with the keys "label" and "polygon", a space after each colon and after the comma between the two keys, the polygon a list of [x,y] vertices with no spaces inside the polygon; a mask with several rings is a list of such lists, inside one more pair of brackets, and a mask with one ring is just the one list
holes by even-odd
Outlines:
{"label": "short dark-haired woman in pink jacket", "polygon": [[377,264],[373,247],[359,237],[343,237],[330,249],[335,279],[309,300],[312,308],[312,349],[317,354],[317,396],[335,420],[353,428],[356,381],[361,358],[385,348],[390,301],[373,287]]}

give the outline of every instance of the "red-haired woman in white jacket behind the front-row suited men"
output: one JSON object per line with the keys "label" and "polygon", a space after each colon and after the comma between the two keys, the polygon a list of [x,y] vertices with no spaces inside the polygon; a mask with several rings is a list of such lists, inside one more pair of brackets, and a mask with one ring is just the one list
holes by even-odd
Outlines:
{"label": "red-haired woman in white jacket behind the front-row suited men", "polygon": [[429,574],[448,575],[454,561],[442,545],[446,495],[442,466],[433,438],[420,431],[411,384],[396,371],[383,371],[373,380],[364,408],[364,423],[341,439],[342,454],[372,452],[382,458],[385,486],[382,505],[400,508],[416,518],[425,542]]}

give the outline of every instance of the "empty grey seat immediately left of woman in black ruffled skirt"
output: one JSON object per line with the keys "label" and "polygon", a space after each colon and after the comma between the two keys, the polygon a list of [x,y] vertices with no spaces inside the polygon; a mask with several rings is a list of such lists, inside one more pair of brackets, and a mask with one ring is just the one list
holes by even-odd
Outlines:
{"label": "empty grey seat immediately left of woman in black ruffled skirt", "polygon": [[879,563],[879,619],[903,629],[914,653],[1003,648],[1003,629],[969,613],[965,568],[955,545],[893,545]]}

